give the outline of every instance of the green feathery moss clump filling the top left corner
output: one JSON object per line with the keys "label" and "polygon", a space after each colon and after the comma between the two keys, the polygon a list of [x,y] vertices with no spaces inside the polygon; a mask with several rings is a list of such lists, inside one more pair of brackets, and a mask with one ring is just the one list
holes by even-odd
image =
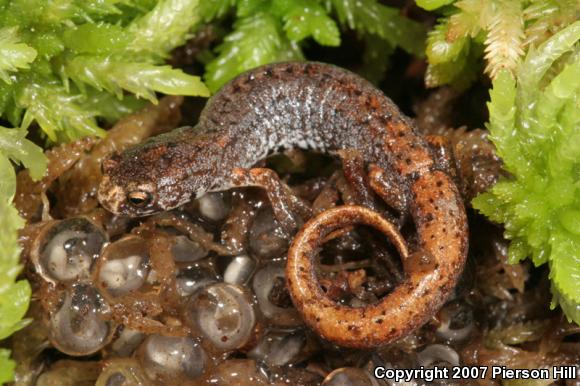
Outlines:
{"label": "green feathery moss clump filling the top left corner", "polygon": [[0,115],[15,126],[36,121],[61,142],[103,135],[102,103],[122,104],[105,94],[209,94],[198,77],[163,65],[199,24],[199,0],[58,4],[15,0],[0,9],[0,79],[10,96]]}

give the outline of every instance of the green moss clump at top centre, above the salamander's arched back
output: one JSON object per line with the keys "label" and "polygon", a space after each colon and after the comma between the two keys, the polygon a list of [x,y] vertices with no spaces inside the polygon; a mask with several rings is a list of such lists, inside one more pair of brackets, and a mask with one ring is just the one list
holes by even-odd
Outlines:
{"label": "green moss clump at top centre, above the salamander's arched back", "polygon": [[[228,12],[236,16],[232,31],[206,66],[204,79],[212,91],[256,66],[302,59],[301,47],[309,38],[323,46],[338,46],[341,29],[355,30],[369,42],[367,53],[378,46],[378,39],[384,58],[396,47],[423,55],[423,27],[377,0],[211,0],[201,7],[205,21]],[[365,75],[376,81],[384,69],[367,66]]]}

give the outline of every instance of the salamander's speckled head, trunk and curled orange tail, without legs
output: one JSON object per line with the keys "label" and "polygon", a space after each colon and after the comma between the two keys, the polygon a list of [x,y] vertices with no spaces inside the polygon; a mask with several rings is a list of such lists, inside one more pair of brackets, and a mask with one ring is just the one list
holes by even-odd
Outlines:
{"label": "salamander's speckled head, trunk and curled orange tail, without legs", "polygon": [[[105,162],[99,200],[128,215],[171,209],[206,191],[229,188],[233,168],[251,167],[291,147],[355,149],[395,176],[418,248],[434,259],[430,271],[409,269],[407,279],[377,306],[337,305],[315,284],[313,265],[306,264],[328,228],[324,221],[338,221],[332,217],[337,212],[324,212],[299,232],[288,258],[289,288],[305,321],[325,338],[359,348],[388,343],[425,323],[454,288],[465,262],[463,202],[409,119],[378,89],[341,68],[280,63],[240,75],[209,100],[195,128],[155,137]],[[132,207],[126,196],[133,190],[150,192],[152,202]],[[364,222],[355,212],[351,217]]]}

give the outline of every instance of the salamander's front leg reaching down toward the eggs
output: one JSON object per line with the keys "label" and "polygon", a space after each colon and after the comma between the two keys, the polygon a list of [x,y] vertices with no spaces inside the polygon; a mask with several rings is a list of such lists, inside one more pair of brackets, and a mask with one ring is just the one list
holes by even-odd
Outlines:
{"label": "salamander's front leg reaching down toward the eggs", "polygon": [[282,229],[291,234],[309,218],[311,209],[300,197],[280,181],[280,177],[271,169],[234,168],[232,182],[235,186],[258,186],[263,188],[272,204],[274,216]]}

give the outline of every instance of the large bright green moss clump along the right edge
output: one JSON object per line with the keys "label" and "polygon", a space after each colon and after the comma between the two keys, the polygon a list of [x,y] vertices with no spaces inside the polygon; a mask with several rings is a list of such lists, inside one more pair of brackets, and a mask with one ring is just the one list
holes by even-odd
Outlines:
{"label": "large bright green moss clump along the right edge", "polygon": [[512,178],[473,201],[512,240],[511,262],[548,263],[554,294],[580,324],[580,22],[493,82],[489,131]]}

